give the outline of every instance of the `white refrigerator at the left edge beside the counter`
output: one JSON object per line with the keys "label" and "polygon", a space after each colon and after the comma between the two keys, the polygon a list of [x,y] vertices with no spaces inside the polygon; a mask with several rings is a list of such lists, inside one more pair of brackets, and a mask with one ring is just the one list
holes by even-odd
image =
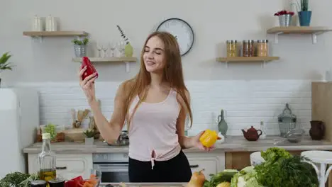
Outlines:
{"label": "white refrigerator at the left edge beside the counter", "polygon": [[23,148],[34,142],[38,126],[38,91],[0,88],[0,179],[13,171],[28,171]]}

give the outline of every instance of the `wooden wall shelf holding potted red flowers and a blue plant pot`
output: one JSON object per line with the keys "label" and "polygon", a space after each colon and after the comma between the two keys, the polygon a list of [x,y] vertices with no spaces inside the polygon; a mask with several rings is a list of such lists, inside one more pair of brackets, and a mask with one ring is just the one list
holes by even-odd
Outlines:
{"label": "wooden wall shelf holding potted red flowers and a blue plant pot", "polygon": [[310,26],[289,26],[289,27],[274,27],[267,30],[268,34],[275,35],[275,43],[278,43],[278,36],[281,34],[310,34],[312,42],[317,42],[317,35],[331,32],[332,29],[326,27],[310,27]]}

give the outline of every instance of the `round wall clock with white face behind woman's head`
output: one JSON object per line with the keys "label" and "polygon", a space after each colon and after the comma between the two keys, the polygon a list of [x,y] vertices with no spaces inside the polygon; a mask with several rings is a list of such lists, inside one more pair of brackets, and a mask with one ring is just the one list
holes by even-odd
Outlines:
{"label": "round wall clock with white face behind woman's head", "polygon": [[181,56],[186,55],[187,52],[192,49],[192,45],[194,45],[194,31],[192,27],[182,19],[169,18],[162,21],[157,31],[166,31],[177,38]]}

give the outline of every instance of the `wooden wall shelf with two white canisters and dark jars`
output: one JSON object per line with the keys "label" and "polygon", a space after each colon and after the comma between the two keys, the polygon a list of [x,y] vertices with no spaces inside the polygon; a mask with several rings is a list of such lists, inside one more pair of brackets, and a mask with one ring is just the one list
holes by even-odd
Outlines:
{"label": "wooden wall shelf with two white canisters and dark jars", "polygon": [[87,36],[84,31],[24,31],[23,35],[31,37],[62,37],[62,36]]}

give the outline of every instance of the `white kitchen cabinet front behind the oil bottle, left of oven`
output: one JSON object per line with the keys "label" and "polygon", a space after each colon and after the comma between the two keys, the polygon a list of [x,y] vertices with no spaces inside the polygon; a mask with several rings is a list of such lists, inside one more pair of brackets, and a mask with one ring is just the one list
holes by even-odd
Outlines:
{"label": "white kitchen cabinet front behind the oil bottle, left of oven", "polygon": [[[57,176],[72,179],[76,176],[89,178],[92,169],[92,154],[57,154]],[[28,154],[28,172],[39,170],[38,154]]]}

